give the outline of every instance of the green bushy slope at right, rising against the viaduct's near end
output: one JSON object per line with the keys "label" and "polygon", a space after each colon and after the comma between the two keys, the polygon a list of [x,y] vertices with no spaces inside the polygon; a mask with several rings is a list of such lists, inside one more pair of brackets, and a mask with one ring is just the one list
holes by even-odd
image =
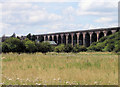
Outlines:
{"label": "green bushy slope at right, rising against the viaduct's near end", "polygon": [[90,51],[120,52],[120,31],[112,35],[102,37],[87,48]]}

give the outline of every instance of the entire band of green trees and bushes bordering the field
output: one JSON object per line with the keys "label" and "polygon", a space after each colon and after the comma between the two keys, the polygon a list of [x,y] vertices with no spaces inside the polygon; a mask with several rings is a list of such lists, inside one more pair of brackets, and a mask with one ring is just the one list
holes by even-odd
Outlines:
{"label": "entire band of green trees and bushes bordering the field", "polygon": [[[15,36],[15,35],[13,35]],[[56,47],[51,46],[47,42],[42,42],[43,37],[38,38],[40,42],[35,41],[36,36],[28,34],[25,40],[11,37],[2,43],[2,52],[84,52],[84,51],[102,51],[102,52],[120,52],[120,31],[112,35],[102,37],[98,42],[93,42],[89,47],[79,46],[76,44],[74,47],[70,44],[60,44]]]}

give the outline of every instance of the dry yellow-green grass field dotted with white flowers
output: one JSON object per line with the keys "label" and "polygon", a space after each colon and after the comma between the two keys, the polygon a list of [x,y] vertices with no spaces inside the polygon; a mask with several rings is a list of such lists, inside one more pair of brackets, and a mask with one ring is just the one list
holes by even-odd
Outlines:
{"label": "dry yellow-green grass field dotted with white flowers", "polygon": [[2,54],[6,85],[117,85],[118,55],[102,52]]}

